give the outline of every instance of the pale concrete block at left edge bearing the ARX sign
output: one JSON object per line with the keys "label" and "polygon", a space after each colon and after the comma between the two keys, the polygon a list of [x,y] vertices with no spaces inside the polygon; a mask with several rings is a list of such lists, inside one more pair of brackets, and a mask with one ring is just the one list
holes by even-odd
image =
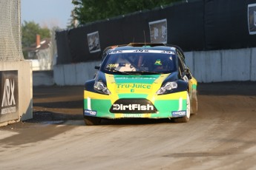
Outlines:
{"label": "pale concrete block at left edge bearing the ARX sign", "polygon": [[[19,122],[20,120],[27,120],[33,118],[33,88],[32,88],[32,69],[30,61],[3,61],[0,62],[0,71],[2,74],[9,72],[13,74],[14,78],[1,78],[1,112],[0,112],[0,126],[5,126],[9,123]],[[10,81],[10,84],[9,84]],[[17,88],[18,86],[18,88]],[[16,91],[18,90],[18,92]],[[18,97],[13,96],[18,94]],[[13,97],[18,98],[13,99]],[[7,100],[3,102],[4,100]],[[13,101],[12,101],[13,100]],[[3,104],[5,103],[5,104]],[[3,113],[3,110],[7,111]],[[16,111],[16,112],[14,112]]]}

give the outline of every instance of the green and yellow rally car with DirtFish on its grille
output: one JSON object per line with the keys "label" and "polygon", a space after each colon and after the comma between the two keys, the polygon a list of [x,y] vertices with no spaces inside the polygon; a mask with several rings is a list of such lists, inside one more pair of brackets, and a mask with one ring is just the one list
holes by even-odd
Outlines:
{"label": "green and yellow rally car with DirtFish on its grille", "polygon": [[86,81],[86,125],[102,118],[169,118],[188,122],[197,112],[197,80],[180,47],[131,43],[105,50],[96,76]]}

